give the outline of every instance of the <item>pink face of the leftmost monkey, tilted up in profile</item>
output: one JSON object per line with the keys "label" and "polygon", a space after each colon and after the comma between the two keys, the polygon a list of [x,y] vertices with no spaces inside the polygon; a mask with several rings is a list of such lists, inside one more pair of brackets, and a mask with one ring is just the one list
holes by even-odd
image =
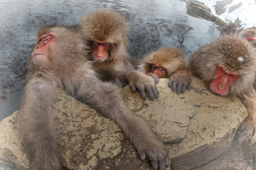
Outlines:
{"label": "pink face of the leftmost monkey, tilted up in profile", "polygon": [[46,64],[49,62],[48,52],[50,43],[55,39],[55,35],[53,33],[48,33],[42,35],[38,41],[38,45],[34,48],[32,52],[33,62],[35,64]]}

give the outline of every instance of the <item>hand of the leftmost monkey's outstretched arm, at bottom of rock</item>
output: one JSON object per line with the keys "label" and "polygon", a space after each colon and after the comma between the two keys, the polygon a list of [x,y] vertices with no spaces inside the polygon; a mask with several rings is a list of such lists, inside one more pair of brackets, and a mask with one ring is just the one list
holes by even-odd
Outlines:
{"label": "hand of the leftmost monkey's outstretched arm, at bottom of rock", "polygon": [[149,147],[145,149],[137,149],[140,159],[150,160],[154,169],[164,170],[169,167],[169,155],[163,147]]}

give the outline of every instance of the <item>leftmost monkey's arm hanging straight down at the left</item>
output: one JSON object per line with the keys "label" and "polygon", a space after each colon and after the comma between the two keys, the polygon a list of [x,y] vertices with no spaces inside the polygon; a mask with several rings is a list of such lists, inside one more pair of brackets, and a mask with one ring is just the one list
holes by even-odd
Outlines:
{"label": "leftmost monkey's arm hanging straight down at the left", "polygon": [[[46,75],[49,77],[49,75]],[[55,97],[55,81],[33,74],[23,91],[17,114],[18,131],[28,153],[31,169],[58,169],[55,127],[51,113]],[[41,161],[44,159],[43,161]]]}

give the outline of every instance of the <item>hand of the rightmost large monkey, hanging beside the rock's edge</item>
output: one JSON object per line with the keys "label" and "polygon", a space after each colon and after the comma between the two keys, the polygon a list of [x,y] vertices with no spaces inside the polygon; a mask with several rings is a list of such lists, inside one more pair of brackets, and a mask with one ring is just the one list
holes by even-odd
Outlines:
{"label": "hand of the rightmost large monkey, hanging beside the rock's edge", "polygon": [[255,125],[255,121],[250,120],[250,118],[246,118],[246,120],[242,123],[240,128],[238,128],[238,132],[236,134],[236,140],[242,142],[247,140],[252,132],[252,129]]}

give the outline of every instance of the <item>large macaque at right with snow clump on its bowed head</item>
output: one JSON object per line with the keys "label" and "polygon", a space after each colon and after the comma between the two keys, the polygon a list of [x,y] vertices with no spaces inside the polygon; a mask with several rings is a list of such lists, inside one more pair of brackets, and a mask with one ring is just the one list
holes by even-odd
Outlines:
{"label": "large macaque at right with snow clump on its bowed head", "polygon": [[223,35],[190,58],[193,75],[205,81],[213,93],[238,96],[245,104],[248,116],[237,132],[240,141],[250,135],[256,120],[254,50],[236,35]]}

